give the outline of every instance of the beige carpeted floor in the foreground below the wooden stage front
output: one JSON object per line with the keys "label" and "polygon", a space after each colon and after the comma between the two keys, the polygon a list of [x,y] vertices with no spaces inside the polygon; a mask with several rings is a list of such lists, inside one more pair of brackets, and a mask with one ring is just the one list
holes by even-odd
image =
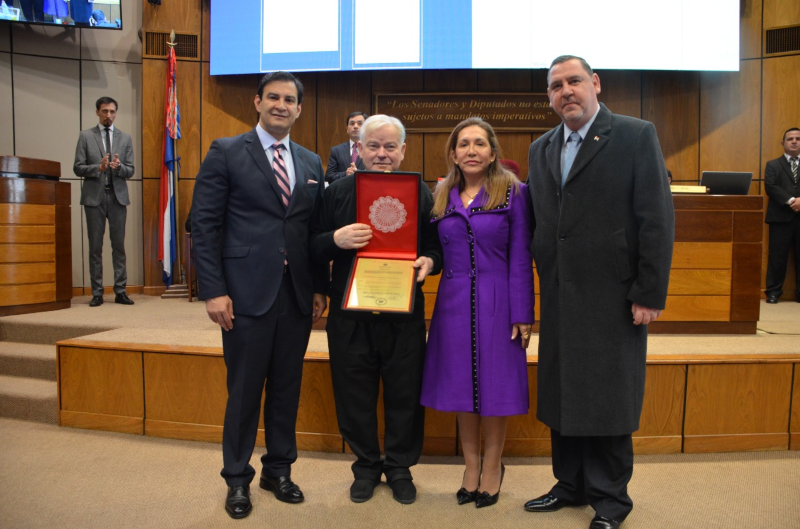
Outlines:
{"label": "beige carpeted floor in the foreground below the wooden stage front", "polygon": [[[509,458],[497,505],[458,506],[459,458],[423,457],[418,499],[400,505],[386,485],[348,498],[352,456],[302,452],[293,478],[306,502],[280,503],[255,486],[253,512],[223,509],[218,444],[75,430],[0,419],[3,528],[583,528],[589,507],[532,514],[525,501],[553,484],[549,458]],[[256,450],[252,464],[260,468]],[[638,456],[625,529],[800,527],[800,452]]]}

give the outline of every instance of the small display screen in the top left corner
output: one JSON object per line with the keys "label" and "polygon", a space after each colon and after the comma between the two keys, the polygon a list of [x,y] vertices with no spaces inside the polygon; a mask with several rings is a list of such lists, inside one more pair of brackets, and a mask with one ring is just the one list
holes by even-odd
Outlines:
{"label": "small display screen in the top left corner", "polygon": [[[0,0],[0,22],[122,29],[125,0]],[[260,0],[259,0],[260,1]]]}

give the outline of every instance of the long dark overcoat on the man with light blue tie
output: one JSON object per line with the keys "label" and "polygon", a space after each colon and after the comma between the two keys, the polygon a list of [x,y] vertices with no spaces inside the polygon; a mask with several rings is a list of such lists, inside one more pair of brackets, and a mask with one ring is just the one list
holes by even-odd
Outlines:
{"label": "long dark overcoat on the man with light blue tie", "polygon": [[539,273],[539,420],[562,435],[624,435],[641,415],[647,326],[664,308],[675,217],[652,123],[601,106],[561,189],[564,125],[531,145]]}

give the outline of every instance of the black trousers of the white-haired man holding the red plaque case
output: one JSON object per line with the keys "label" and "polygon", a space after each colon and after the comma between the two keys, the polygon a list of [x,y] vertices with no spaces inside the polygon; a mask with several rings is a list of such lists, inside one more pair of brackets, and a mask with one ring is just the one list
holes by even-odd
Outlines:
{"label": "black trousers of the white-haired man holding the red plaque case", "polygon": [[[328,317],[328,349],[342,437],[356,455],[355,479],[410,479],[422,453],[420,405],[425,321],[357,322]],[[378,443],[378,391],[383,381],[384,451]]]}

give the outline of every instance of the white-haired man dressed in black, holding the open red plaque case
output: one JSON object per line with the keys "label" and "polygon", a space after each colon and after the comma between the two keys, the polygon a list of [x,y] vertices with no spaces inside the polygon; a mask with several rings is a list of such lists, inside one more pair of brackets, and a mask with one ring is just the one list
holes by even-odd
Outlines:
{"label": "white-haired man dressed in black, holding the open red plaque case", "polygon": [[[364,122],[359,147],[370,171],[396,171],[405,155],[405,128],[396,118],[378,114]],[[415,305],[411,314],[342,309],[342,299],[356,250],[369,244],[372,229],[356,222],[355,177],[334,182],[325,192],[315,222],[311,252],[316,262],[333,261],[328,314],[328,349],[339,430],[356,455],[350,499],[372,498],[381,475],[400,503],[417,497],[410,467],[422,453],[425,411],[420,405],[425,359],[425,295],[422,282],[442,266],[436,228],[430,222],[433,197],[419,186],[419,241]],[[378,442],[378,387],[383,382],[384,448]]]}

